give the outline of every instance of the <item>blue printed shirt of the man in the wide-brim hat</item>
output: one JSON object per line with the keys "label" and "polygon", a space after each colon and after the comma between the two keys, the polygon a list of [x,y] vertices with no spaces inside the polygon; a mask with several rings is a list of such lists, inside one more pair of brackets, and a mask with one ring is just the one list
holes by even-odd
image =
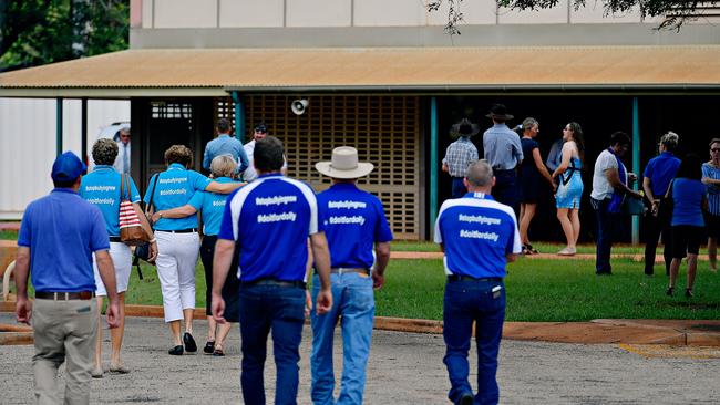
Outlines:
{"label": "blue printed shirt of the man in the wide-brim hat", "polygon": [[374,242],[389,242],[392,231],[382,202],[354,184],[338,183],[318,194],[332,268],[371,269]]}

